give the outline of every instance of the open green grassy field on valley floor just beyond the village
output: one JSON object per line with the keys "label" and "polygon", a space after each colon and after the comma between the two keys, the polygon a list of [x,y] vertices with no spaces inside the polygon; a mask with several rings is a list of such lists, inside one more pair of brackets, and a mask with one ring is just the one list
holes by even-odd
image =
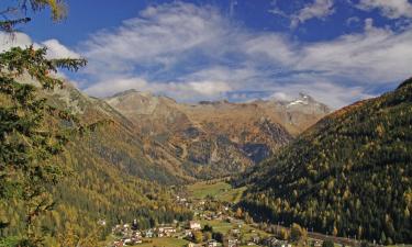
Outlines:
{"label": "open green grassy field on valley floor just beyond the village", "polygon": [[224,181],[202,181],[188,186],[188,192],[192,199],[204,199],[208,195],[224,202],[236,203],[246,188],[233,189]]}

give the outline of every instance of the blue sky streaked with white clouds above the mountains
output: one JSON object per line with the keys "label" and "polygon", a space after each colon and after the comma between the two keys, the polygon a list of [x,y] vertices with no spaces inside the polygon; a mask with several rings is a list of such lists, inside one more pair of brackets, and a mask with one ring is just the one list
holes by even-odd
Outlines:
{"label": "blue sky streaked with white clouds above the mountains", "polygon": [[33,43],[49,57],[87,58],[62,75],[93,97],[133,88],[181,102],[244,102],[303,92],[337,109],[412,75],[408,0],[66,3],[66,20],[29,13],[13,41],[0,33],[0,49]]}

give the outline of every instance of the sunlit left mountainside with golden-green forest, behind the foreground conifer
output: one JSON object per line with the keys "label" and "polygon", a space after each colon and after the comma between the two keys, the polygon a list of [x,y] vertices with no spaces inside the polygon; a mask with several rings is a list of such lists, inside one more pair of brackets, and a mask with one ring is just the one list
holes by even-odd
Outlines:
{"label": "sunlit left mountainside with golden-green forest, behind the foreground conifer", "polygon": [[[30,78],[21,78],[31,82]],[[49,190],[57,202],[55,211],[42,216],[42,227],[51,233],[48,246],[60,246],[62,237],[70,234],[87,236],[94,232],[97,222],[104,221],[107,234],[120,222],[137,218],[142,227],[174,220],[190,220],[192,213],[175,204],[170,184],[181,184],[192,178],[172,167],[174,159],[156,142],[147,143],[132,132],[133,124],[102,100],[90,98],[71,85],[54,91],[38,90],[47,103],[68,110],[81,125],[90,130],[70,137],[62,155],[53,161],[60,164],[66,176]],[[47,122],[63,126],[53,115]],[[157,156],[147,154],[149,145]],[[162,156],[164,155],[164,156]],[[20,204],[8,204],[0,217],[10,227],[0,236],[23,232]],[[65,246],[65,245],[63,245]],[[66,245],[69,246],[69,245]]]}

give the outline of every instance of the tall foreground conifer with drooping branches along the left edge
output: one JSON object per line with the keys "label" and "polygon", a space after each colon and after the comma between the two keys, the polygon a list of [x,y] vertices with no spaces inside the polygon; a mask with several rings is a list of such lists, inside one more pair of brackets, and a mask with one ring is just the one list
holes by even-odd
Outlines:
{"label": "tall foreground conifer with drooping branches along the left edge", "polygon": [[[58,0],[14,1],[1,11],[0,30],[13,38],[15,27],[27,23],[29,13],[49,9],[54,21],[66,12]],[[20,15],[20,16],[19,16]],[[16,18],[19,16],[19,18]],[[53,161],[78,131],[75,117],[47,104],[38,90],[52,90],[63,85],[53,76],[59,68],[71,71],[86,65],[85,59],[48,59],[46,48],[12,47],[0,54],[0,246],[43,246],[38,217],[53,210],[49,193],[63,176],[63,167]],[[40,88],[25,83],[34,79]],[[62,123],[65,126],[62,128]],[[23,215],[24,228],[13,234],[2,210],[15,210]],[[5,215],[5,216],[4,216]]]}

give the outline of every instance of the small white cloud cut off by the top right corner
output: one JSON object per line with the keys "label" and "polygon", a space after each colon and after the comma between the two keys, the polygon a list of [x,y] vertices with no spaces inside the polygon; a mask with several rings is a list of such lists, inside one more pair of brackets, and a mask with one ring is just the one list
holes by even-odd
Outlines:
{"label": "small white cloud cut off by the top right corner", "polygon": [[361,10],[379,10],[389,19],[412,18],[412,4],[408,0],[360,0],[357,8]]}

